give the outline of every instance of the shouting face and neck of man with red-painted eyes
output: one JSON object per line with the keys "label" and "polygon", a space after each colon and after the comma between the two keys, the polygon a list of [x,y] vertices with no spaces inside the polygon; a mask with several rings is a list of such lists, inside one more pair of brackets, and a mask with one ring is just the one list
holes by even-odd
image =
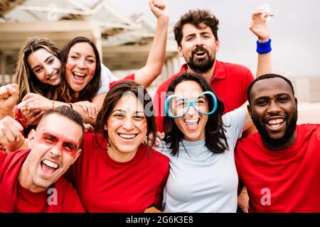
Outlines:
{"label": "shouting face and neck of man with red-painted eyes", "polygon": [[[58,122],[58,123],[57,123]],[[31,151],[23,163],[21,185],[40,192],[57,181],[80,155],[82,128],[75,122],[50,114],[28,135]],[[20,181],[20,179],[19,179]]]}

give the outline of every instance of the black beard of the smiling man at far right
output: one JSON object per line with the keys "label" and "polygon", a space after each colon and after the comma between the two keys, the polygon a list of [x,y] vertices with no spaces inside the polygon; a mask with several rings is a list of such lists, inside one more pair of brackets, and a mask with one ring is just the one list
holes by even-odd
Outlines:
{"label": "black beard of the smiling man at far right", "polygon": [[265,126],[263,126],[262,123],[260,123],[259,118],[252,115],[252,121],[255,124],[257,131],[260,133],[262,140],[265,141],[265,143],[268,143],[270,145],[282,145],[284,143],[287,143],[287,141],[290,138],[292,138],[292,135],[296,130],[297,119],[298,119],[298,111],[296,110],[294,111],[294,113],[292,113],[291,120],[286,122],[287,128],[284,131],[284,135],[282,135],[279,138],[273,138],[271,135],[269,135]]}

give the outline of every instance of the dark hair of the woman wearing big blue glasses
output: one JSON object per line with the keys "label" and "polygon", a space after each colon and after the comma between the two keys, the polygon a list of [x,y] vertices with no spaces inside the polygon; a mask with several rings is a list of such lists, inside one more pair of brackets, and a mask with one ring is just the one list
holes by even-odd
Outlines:
{"label": "dark hair of the woman wearing big blue glasses", "polygon": [[[176,77],[168,88],[167,95],[172,94],[174,89],[178,84],[184,81],[194,81],[197,82],[203,92],[210,91],[213,92],[212,88],[206,82],[206,79],[198,76],[196,74],[184,73],[181,76]],[[212,97],[207,96],[207,99],[212,100]],[[225,128],[223,125],[222,115],[225,109],[222,101],[217,99],[218,107],[214,114],[208,116],[208,122],[206,123],[206,147],[212,153],[223,153],[229,148],[227,138],[225,136]],[[209,109],[213,108],[213,102],[209,101]],[[164,132],[166,133],[164,141],[166,143],[171,143],[170,149],[172,149],[171,155],[178,155],[179,142],[183,139],[183,133],[180,131],[173,118],[169,116],[164,116]]]}

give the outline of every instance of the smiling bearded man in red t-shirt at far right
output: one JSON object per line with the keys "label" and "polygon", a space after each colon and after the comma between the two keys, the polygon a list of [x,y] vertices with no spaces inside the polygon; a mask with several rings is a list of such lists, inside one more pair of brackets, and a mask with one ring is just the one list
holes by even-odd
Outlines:
{"label": "smiling bearded man in red t-shirt at far right", "polygon": [[239,182],[251,212],[320,212],[320,124],[297,125],[297,98],[289,79],[265,74],[247,92],[259,133],[238,140]]}

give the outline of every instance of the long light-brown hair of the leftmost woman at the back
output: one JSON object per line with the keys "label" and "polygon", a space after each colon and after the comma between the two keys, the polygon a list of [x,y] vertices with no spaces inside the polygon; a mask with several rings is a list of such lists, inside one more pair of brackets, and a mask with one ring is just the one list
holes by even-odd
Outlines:
{"label": "long light-brown hair of the leftmost woman at the back", "polygon": [[28,63],[29,55],[39,49],[47,50],[60,60],[60,50],[48,38],[35,37],[28,39],[20,50],[16,65],[14,80],[19,87],[18,102],[21,102],[23,97],[29,92],[41,94],[48,99],[53,99],[54,97],[57,87],[41,82],[33,73]]}

